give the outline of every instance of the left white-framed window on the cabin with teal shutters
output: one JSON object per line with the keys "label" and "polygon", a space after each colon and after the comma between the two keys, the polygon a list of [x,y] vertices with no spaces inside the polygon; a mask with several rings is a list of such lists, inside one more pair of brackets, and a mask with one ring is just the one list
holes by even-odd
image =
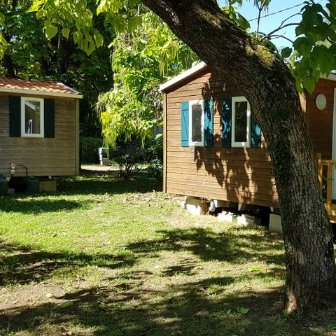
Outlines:
{"label": "left white-framed window on the cabin with teal shutters", "polygon": [[204,100],[189,102],[189,146],[204,146]]}

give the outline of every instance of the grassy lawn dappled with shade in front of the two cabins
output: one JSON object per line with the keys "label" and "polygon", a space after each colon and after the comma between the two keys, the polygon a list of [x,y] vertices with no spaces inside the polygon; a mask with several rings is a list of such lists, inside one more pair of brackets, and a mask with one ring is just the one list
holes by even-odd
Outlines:
{"label": "grassy lawn dappled with shade in front of the two cabins", "polygon": [[336,309],[281,312],[281,237],[113,174],[0,197],[1,336],[336,335]]}

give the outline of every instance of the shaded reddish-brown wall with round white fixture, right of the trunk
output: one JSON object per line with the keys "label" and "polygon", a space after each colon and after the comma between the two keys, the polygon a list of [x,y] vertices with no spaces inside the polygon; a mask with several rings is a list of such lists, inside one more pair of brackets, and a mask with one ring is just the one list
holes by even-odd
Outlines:
{"label": "shaded reddish-brown wall with round white fixture, right of the trunk", "polygon": [[[306,94],[307,99],[307,127],[313,142],[314,151],[321,153],[322,158],[332,158],[332,118],[334,109],[334,80],[320,79],[312,94]],[[323,111],[317,109],[316,96],[323,93],[327,98],[327,106]]]}

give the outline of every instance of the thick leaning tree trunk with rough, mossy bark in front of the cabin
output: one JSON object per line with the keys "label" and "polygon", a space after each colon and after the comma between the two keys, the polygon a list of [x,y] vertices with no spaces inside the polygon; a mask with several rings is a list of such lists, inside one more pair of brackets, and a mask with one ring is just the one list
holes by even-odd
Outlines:
{"label": "thick leaning tree trunk with rough, mossy bark in front of the cabin", "polygon": [[223,14],[214,0],[143,0],[251,104],[272,157],[286,248],[286,310],[335,302],[332,230],[295,80],[286,64]]}

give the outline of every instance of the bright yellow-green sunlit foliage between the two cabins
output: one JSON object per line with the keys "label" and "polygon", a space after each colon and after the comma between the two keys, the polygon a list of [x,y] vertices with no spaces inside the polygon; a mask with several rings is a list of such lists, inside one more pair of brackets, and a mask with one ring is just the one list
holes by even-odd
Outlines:
{"label": "bright yellow-green sunlit foliage between the two cabins", "polygon": [[176,38],[162,20],[139,8],[139,26],[119,33],[113,42],[113,90],[101,94],[97,109],[104,139],[130,141],[153,137],[152,128],[161,120],[158,85],[188,69],[197,56]]}

